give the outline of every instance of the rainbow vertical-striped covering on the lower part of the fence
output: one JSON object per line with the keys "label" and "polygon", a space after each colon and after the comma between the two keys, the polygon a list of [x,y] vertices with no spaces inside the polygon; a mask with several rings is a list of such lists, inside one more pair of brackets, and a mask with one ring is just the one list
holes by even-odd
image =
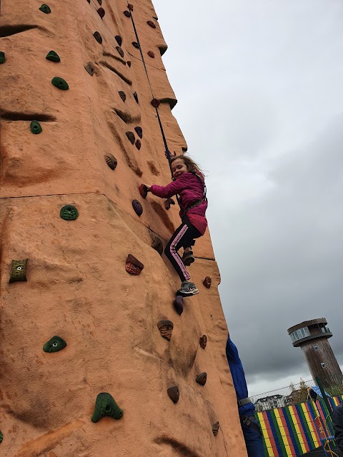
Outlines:
{"label": "rainbow vertical-striped covering on the lower part of the fence", "polygon": [[[328,398],[332,407],[342,397]],[[322,446],[314,418],[320,416],[326,436],[334,434],[322,399],[256,413],[264,438],[266,457],[297,457]],[[327,420],[326,420],[327,418]]]}

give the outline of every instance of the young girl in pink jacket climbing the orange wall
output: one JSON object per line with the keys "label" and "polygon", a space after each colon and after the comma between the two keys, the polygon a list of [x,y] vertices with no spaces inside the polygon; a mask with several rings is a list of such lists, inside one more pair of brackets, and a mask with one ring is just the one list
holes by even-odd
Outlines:
{"label": "young girl in pink jacket climbing the orange wall", "polygon": [[[179,278],[182,281],[178,295],[184,297],[199,293],[194,283],[190,281],[191,276],[185,267],[194,262],[191,246],[194,245],[194,238],[204,235],[207,227],[205,212],[207,210],[207,199],[204,195],[204,175],[188,156],[176,156],[170,161],[174,181],[167,186],[146,186],[147,191],[161,199],[169,199],[171,196],[179,195],[181,208],[180,217],[182,224],[174,231],[172,238],[164,249],[164,253],[172,262]],[[184,256],[181,258],[177,251],[183,246]]]}

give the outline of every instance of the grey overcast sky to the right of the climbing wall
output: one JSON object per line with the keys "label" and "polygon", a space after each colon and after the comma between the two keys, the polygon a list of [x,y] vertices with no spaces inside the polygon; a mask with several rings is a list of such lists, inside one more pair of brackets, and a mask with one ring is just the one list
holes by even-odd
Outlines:
{"label": "grey overcast sky to the right of the climbing wall", "polygon": [[304,320],[327,318],[343,366],[343,2],[153,2],[249,393],[311,378]]}

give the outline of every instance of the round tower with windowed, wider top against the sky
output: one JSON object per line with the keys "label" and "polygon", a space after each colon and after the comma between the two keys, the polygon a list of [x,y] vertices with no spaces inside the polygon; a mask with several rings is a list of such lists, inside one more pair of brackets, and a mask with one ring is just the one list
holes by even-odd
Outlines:
{"label": "round tower with windowed, wider top against the sky", "polygon": [[332,333],[327,328],[327,320],[324,317],[297,323],[287,331],[294,348],[302,348],[314,380],[316,377],[321,378],[324,386],[332,386],[337,381],[342,382],[341,368],[327,341],[332,337]]}

